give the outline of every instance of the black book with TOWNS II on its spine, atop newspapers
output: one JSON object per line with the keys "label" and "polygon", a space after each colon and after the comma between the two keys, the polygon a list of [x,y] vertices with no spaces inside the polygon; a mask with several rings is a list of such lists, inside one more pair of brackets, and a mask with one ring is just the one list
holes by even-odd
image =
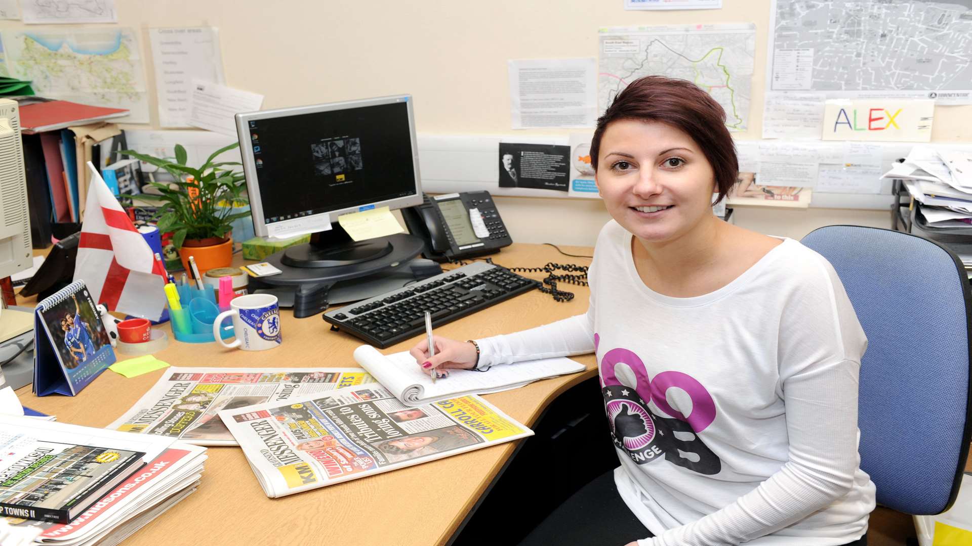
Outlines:
{"label": "black book with TOWNS II on its spine, atop newspapers", "polygon": [[140,468],[145,452],[42,433],[0,420],[0,515],[66,524]]}

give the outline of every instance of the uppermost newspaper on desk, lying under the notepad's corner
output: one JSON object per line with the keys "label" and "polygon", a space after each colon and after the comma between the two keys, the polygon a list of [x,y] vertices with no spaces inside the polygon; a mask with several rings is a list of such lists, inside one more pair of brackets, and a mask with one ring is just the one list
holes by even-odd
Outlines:
{"label": "uppermost newspaper on desk, lying under the notepad's corner", "polygon": [[377,383],[220,417],[272,498],[534,433],[476,395],[407,407]]}

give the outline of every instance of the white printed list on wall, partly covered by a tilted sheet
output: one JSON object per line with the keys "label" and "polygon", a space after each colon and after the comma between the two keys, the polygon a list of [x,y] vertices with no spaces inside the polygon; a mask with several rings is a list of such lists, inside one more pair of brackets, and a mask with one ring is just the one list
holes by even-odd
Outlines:
{"label": "white printed list on wall, partly covered by a tilted sheet", "polygon": [[219,31],[212,27],[150,28],[149,41],[156,67],[158,124],[189,126],[192,81],[225,83]]}

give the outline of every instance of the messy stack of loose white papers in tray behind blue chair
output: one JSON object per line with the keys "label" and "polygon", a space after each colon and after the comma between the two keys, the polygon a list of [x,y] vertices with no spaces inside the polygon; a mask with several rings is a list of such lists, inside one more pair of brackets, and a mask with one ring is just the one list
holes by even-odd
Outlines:
{"label": "messy stack of loose white papers in tray behind blue chair", "polygon": [[972,228],[972,152],[916,146],[883,178],[901,180],[926,229]]}

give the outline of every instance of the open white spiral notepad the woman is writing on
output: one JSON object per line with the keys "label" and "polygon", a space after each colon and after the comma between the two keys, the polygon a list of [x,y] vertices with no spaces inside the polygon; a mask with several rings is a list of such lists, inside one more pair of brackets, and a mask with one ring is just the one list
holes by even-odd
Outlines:
{"label": "open white spiral notepad the woman is writing on", "polygon": [[355,360],[385,389],[407,406],[429,404],[467,394],[518,389],[539,379],[583,371],[586,366],[571,358],[541,358],[493,366],[487,372],[450,369],[449,377],[435,384],[408,353],[382,355],[370,345],[355,349]]}

